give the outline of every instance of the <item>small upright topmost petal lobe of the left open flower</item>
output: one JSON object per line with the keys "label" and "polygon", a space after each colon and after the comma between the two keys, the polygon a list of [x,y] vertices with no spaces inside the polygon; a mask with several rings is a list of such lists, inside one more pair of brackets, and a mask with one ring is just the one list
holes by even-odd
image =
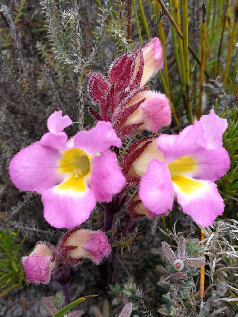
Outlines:
{"label": "small upright topmost petal lobe of the left open flower", "polygon": [[55,111],[47,120],[47,127],[51,133],[62,132],[64,128],[72,124],[69,116],[62,116],[62,110]]}

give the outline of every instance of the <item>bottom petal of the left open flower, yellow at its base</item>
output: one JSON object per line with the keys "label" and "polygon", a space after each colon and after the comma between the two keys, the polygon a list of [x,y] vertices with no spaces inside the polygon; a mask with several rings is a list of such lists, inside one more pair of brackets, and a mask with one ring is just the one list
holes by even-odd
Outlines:
{"label": "bottom petal of the left open flower, yellow at its base", "polygon": [[89,218],[96,199],[90,188],[79,191],[74,187],[68,188],[66,182],[44,191],[41,199],[44,217],[50,225],[70,229]]}

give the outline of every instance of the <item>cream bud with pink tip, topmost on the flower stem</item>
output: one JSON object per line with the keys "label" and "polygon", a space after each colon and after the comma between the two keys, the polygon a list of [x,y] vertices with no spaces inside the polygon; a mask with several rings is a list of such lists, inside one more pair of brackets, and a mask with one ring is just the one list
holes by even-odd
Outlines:
{"label": "cream bud with pink tip, topmost on the flower stem", "polygon": [[152,76],[154,76],[159,70],[163,68],[163,47],[158,37],[154,37],[149,43],[143,45],[140,50],[136,50],[134,53],[137,54],[137,57],[133,77],[136,77],[136,74],[139,70],[139,53],[141,52],[143,53],[144,57],[144,69],[140,87],[144,86]]}

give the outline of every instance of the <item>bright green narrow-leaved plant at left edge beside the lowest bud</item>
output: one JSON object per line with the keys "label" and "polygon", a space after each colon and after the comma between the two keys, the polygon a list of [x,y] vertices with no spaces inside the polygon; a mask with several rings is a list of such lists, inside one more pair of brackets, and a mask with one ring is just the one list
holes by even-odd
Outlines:
{"label": "bright green narrow-leaved plant at left edge beside the lowest bud", "polygon": [[0,230],[0,297],[13,288],[21,287],[25,281],[24,270],[19,253],[25,236],[16,243],[20,229],[17,232]]}

